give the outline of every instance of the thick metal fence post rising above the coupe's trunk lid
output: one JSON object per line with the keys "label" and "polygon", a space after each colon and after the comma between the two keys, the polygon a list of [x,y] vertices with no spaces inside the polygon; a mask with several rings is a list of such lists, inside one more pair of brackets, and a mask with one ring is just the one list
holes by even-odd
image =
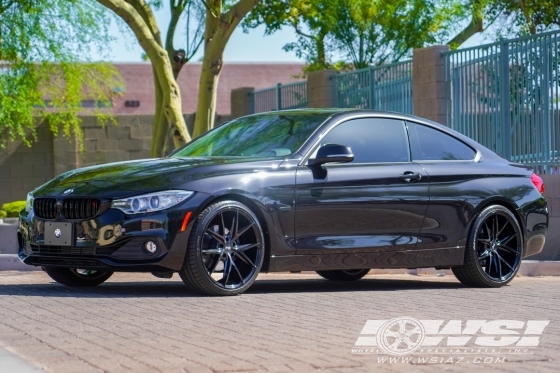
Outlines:
{"label": "thick metal fence post rising above the coupe's trunk lid", "polygon": [[500,114],[502,119],[502,157],[511,160],[511,108],[509,87],[509,44],[500,45]]}

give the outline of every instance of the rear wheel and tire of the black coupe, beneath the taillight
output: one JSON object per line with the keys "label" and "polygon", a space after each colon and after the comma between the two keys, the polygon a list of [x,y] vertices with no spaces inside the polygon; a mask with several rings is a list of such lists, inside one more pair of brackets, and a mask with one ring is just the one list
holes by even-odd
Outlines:
{"label": "rear wheel and tire of the black coupe, beneath the taillight", "polygon": [[492,205],[476,218],[465,247],[462,266],[453,274],[469,287],[500,287],[509,283],[521,266],[523,235],[507,208]]}

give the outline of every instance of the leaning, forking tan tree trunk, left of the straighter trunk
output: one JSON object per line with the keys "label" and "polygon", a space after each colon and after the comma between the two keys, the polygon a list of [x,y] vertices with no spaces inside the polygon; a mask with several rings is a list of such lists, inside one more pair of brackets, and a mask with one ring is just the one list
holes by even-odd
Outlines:
{"label": "leaning, forking tan tree trunk, left of the straighter trunk", "polygon": [[[182,16],[189,22],[203,21],[203,12],[195,0],[169,0],[171,20],[167,25],[165,43],[154,16],[154,10],[164,6],[164,0],[96,0],[112,10],[130,28],[152,63],[156,112],[151,154],[160,157],[171,149],[190,141],[181,105],[181,91],[177,77],[201,44],[202,34],[196,31],[187,41],[190,50],[176,49],[173,40]],[[202,19],[200,19],[202,17]],[[199,27],[194,28],[200,30]]]}

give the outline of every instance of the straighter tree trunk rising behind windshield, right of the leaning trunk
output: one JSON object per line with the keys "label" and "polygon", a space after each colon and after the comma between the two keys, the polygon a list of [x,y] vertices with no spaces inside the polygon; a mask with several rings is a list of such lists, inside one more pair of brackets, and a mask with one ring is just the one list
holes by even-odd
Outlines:
{"label": "straighter tree trunk rising behind windshield, right of the leaning trunk", "polygon": [[198,91],[193,136],[214,127],[218,81],[224,65],[224,50],[241,20],[259,0],[201,0],[206,7],[204,58]]}

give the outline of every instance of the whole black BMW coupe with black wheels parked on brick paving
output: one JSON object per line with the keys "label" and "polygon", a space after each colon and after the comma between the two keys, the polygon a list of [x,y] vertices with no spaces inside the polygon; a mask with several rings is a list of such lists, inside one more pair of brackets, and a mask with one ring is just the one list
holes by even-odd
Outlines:
{"label": "whole black BMW coupe with black wheels parked on brick paving", "polygon": [[69,286],[178,272],[211,295],[240,294],[259,272],[352,281],[371,268],[451,268],[499,287],[544,246],[543,192],[528,167],[421,118],[278,111],[40,186],[19,257]]}

